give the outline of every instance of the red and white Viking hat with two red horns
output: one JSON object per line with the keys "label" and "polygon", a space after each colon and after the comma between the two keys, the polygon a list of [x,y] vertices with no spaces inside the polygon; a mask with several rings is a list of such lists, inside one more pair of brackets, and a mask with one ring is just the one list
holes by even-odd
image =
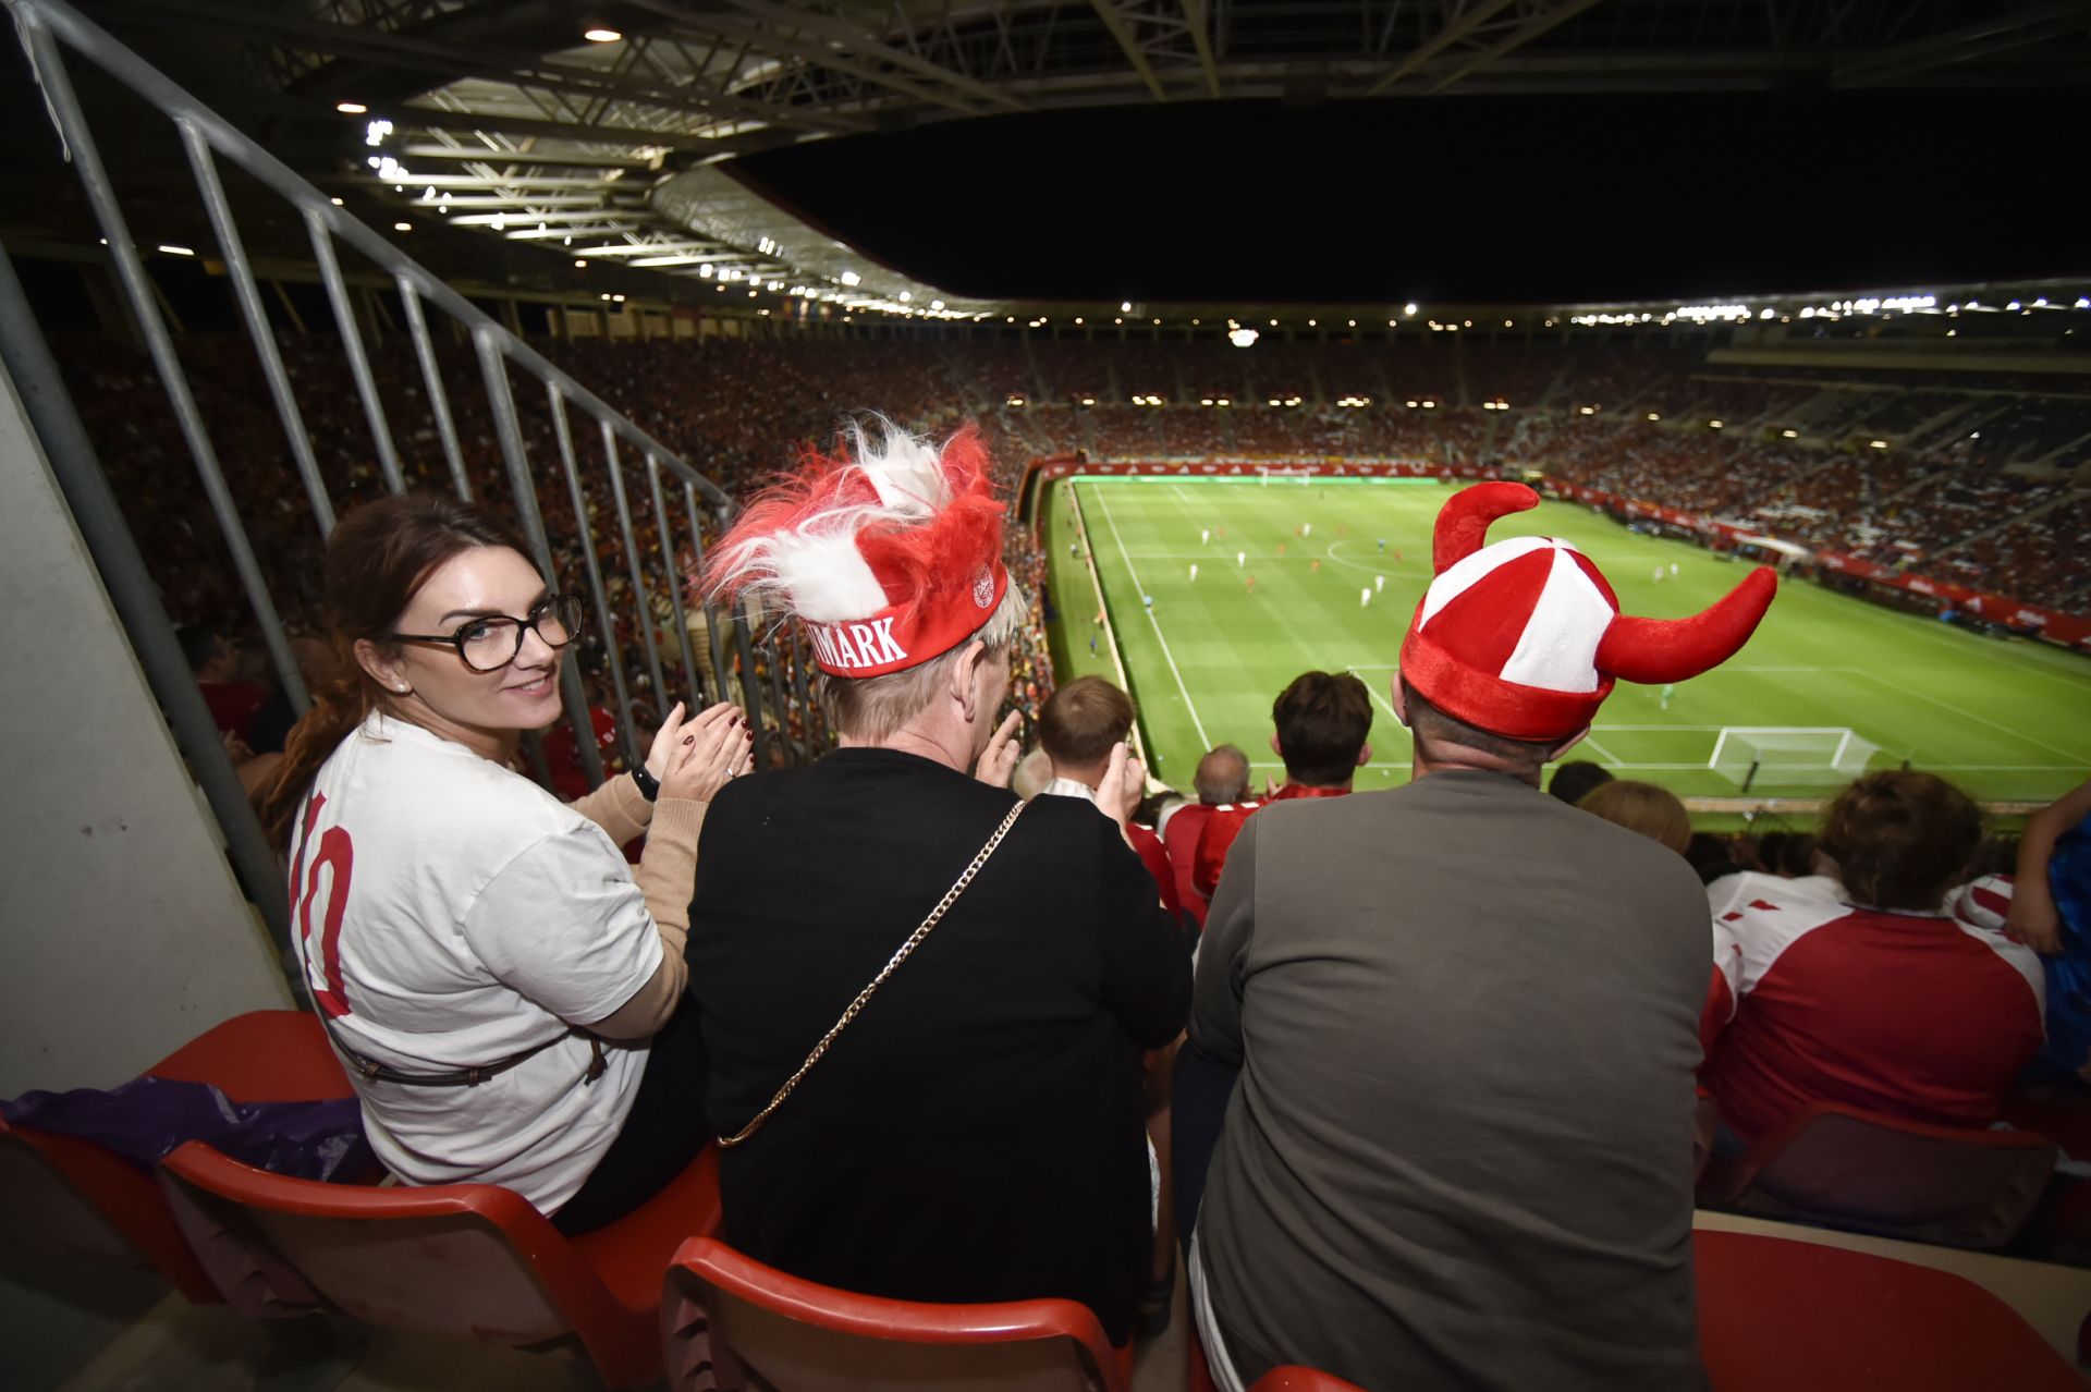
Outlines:
{"label": "red and white Viking hat with two red horns", "polygon": [[1437,579],[1401,642],[1401,675],[1453,719],[1512,740],[1564,740],[1612,679],[1683,681],[1748,642],[1777,575],[1759,566],[1690,619],[1631,619],[1589,556],[1556,537],[1483,546],[1489,523],[1539,506],[1522,483],[1476,483],[1439,512]]}

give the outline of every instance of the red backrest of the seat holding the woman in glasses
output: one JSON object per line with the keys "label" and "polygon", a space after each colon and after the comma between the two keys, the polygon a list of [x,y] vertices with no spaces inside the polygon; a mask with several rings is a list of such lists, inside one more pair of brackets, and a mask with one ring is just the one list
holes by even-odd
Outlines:
{"label": "red backrest of the seat holding the woman in glasses", "polygon": [[529,1346],[611,1304],[567,1237],[498,1185],[284,1179],[201,1141],[161,1175],[197,1258],[243,1315],[332,1306],[370,1325]]}

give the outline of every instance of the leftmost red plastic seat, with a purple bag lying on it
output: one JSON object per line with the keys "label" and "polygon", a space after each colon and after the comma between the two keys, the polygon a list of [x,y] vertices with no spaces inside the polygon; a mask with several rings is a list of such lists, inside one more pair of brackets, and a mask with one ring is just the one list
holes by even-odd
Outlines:
{"label": "leftmost red plastic seat, with a purple bag lying on it", "polygon": [[[146,1074],[211,1083],[232,1101],[351,1095],[318,1018],[299,1010],[234,1016]],[[190,1300],[220,1300],[153,1177],[94,1141],[0,1122],[0,1233],[42,1250],[153,1267]]]}

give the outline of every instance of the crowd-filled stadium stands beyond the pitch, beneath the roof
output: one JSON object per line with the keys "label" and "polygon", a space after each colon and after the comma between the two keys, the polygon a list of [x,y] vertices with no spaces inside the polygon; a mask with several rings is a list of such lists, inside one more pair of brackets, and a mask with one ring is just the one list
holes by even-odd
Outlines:
{"label": "crowd-filled stadium stands beyond the pitch, beneath the roof", "polygon": [[[849,412],[941,433],[974,418],[1014,477],[1029,458],[1399,458],[1526,468],[1767,533],[2083,612],[2091,566],[2091,378],[2053,374],[1736,368],[1637,347],[1453,349],[1269,341],[550,341],[544,351],[690,464],[736,491],[824,441]],[[243,495],[295,512],[289,451],[245,341],[186,343],[203,410]],[[335,339],[284,343],[295,382],[345,380]],[[477,362],[441,349],[462,387]],[[184,617],[232,598],[215,533],[142,355],[61,343],[75,399],[119,477],[148,554],[163,552]],[[443,487],[445,464],[410,353],[376,353],[401,464]],[[299,391],[337,497],[381,487],[368,431],[339,387]],[[309,399],[307,399],[309,397]],[[529,447],[556,458],[542,401]],[[458,420],[468,466],[504,491],[491,422]],[[539,500],[558,527],[562,500]],[[249,516],[266,529],[268,516]],[[305,537],[305,527],[284,525]],[[268,550],[268,548],[263,548]],[[289,591],[316,571],[284,566]],[[171,577],[182,577],[174,581]],[[224,596],[213,594],[224,589]]]}

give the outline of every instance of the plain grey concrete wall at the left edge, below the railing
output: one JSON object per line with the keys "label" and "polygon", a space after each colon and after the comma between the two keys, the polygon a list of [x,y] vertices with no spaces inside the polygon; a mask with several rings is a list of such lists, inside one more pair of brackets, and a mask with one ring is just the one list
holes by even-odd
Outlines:
{"label": "plain grey concrete wall at the left edge, below the railing", "polygon": [[109,1087],[291,1005],[0,376],[0,1097]]}

